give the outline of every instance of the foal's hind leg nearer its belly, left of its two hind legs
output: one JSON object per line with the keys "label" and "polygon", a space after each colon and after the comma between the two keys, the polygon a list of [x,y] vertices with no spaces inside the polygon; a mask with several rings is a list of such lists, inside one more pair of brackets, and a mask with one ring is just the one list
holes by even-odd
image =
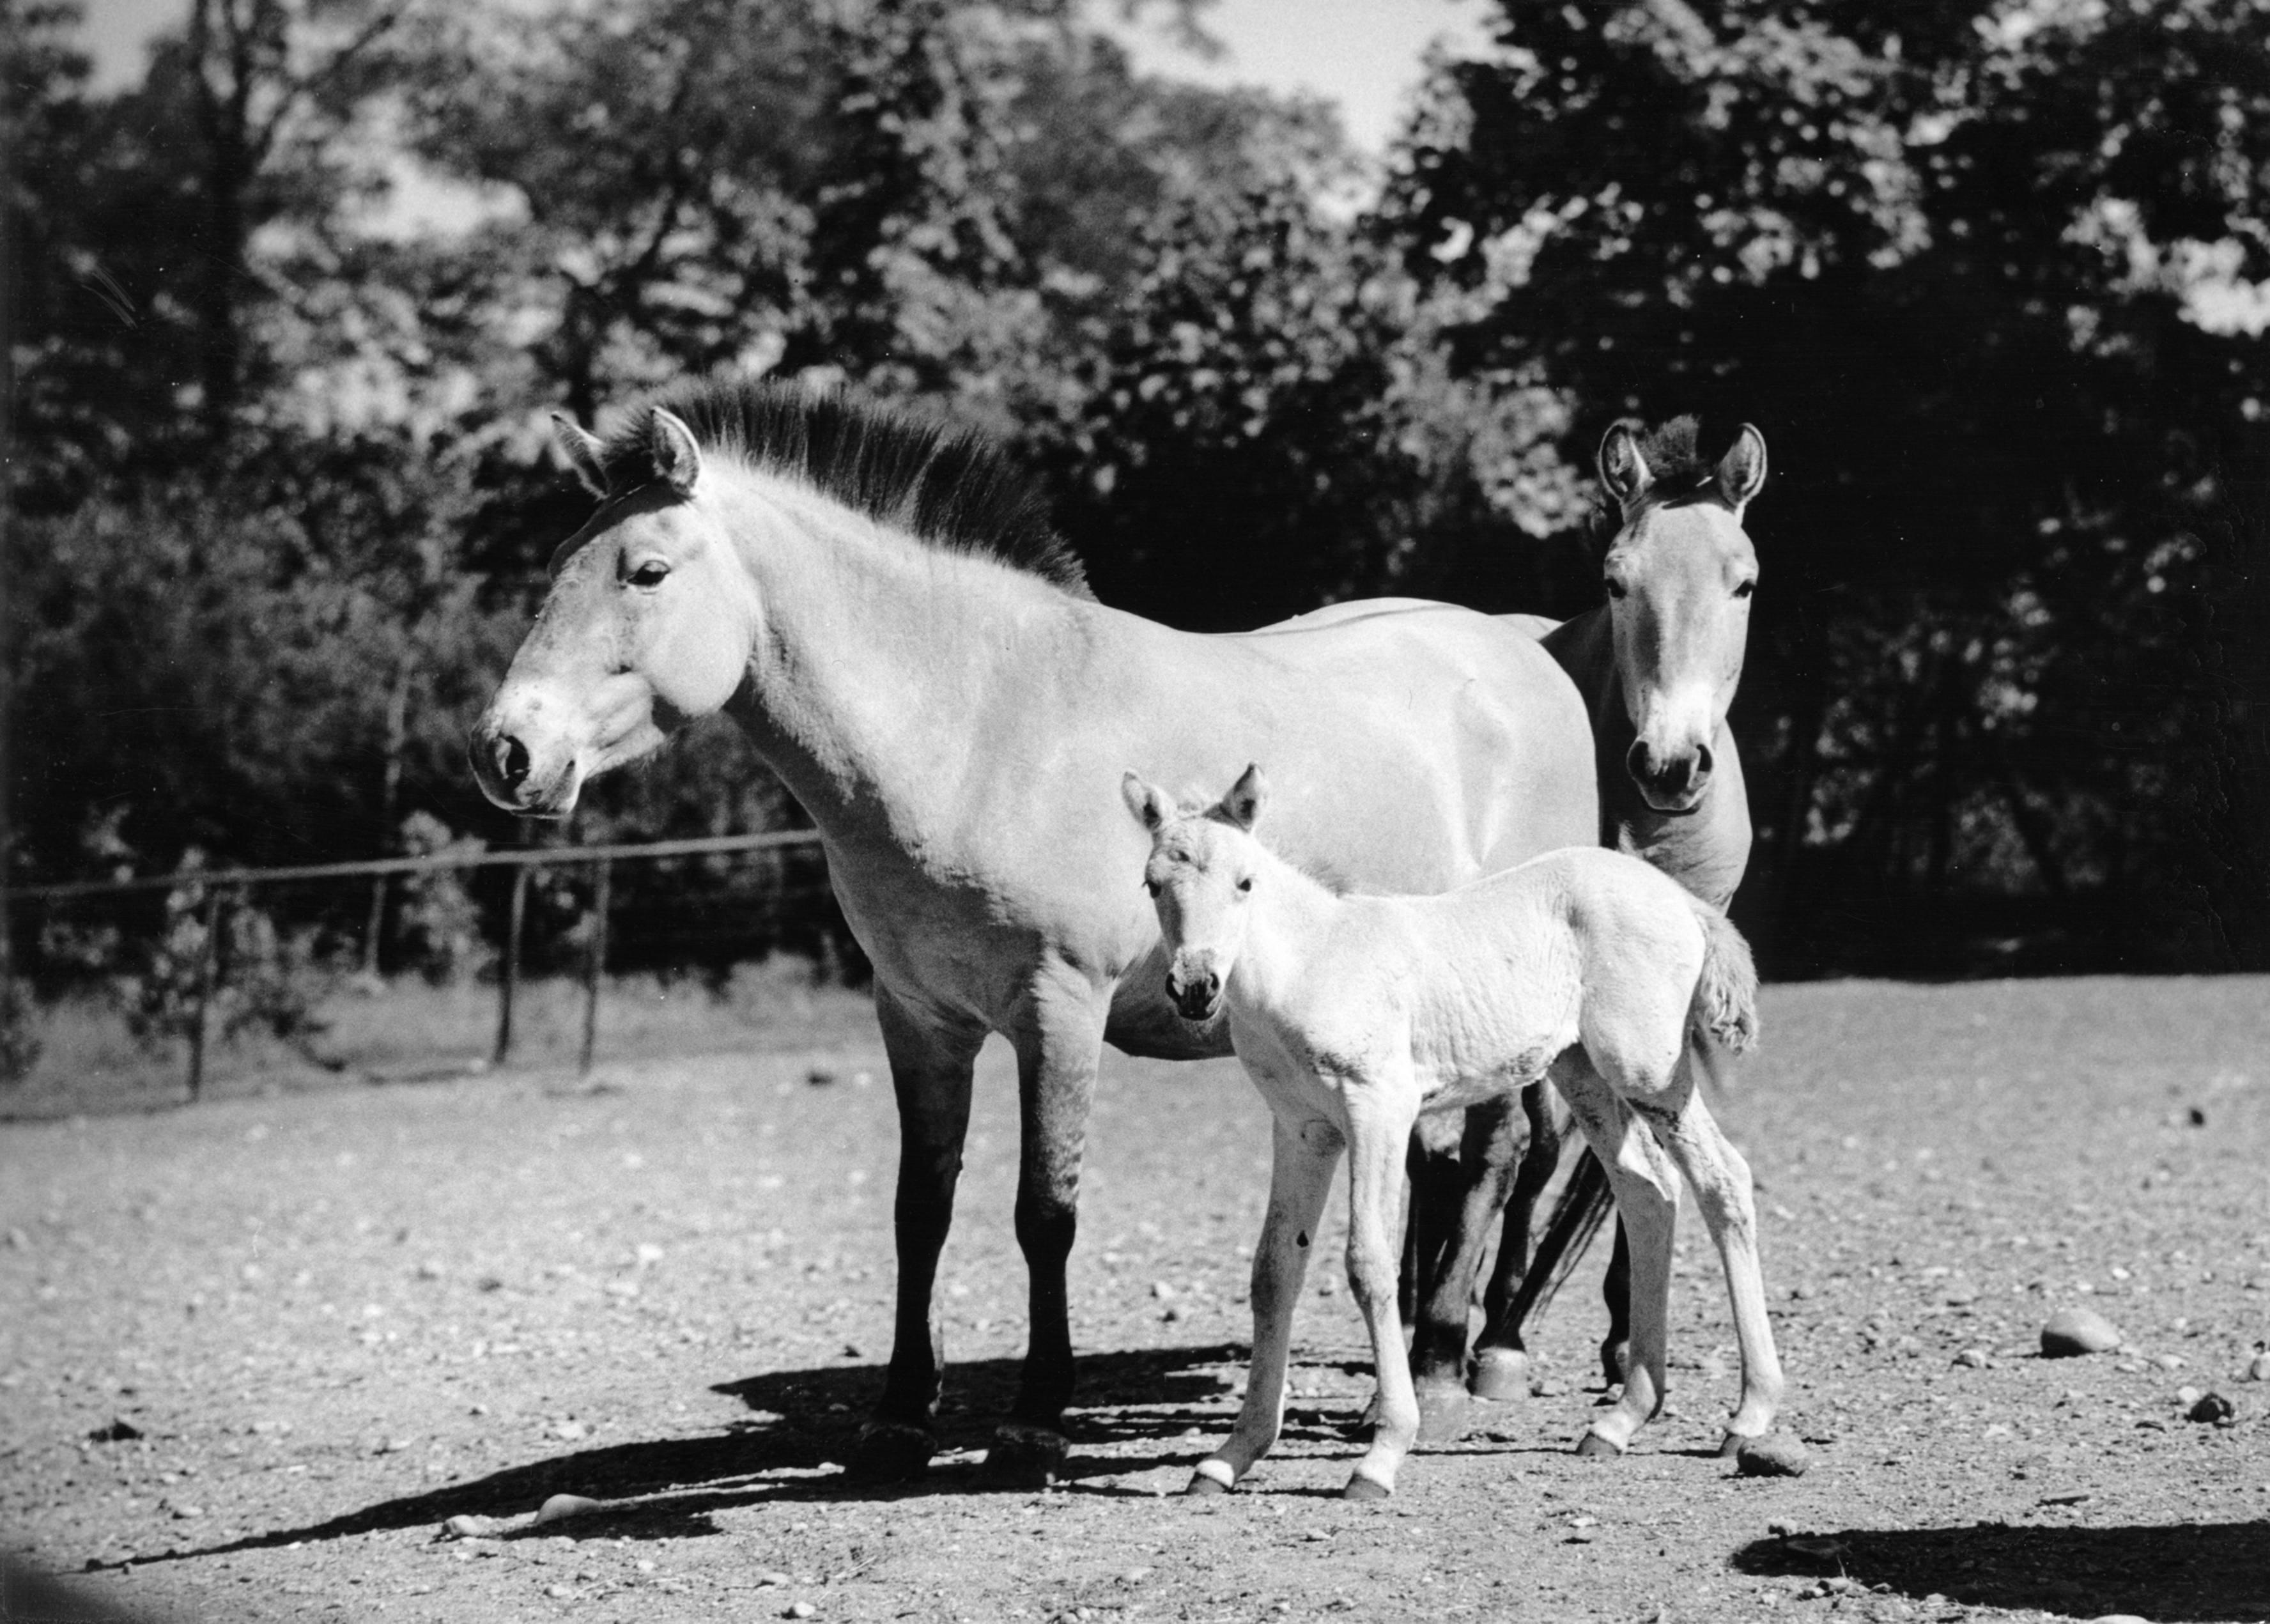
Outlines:
{"label": "foal's hind leg nearer its belly, left of its two hind legs", "polygon": [[1623,1397],[1578,1440],[1578,1454],[1623,1454],[1632,1435],[1664,1406],[1671,1238],[1678,1227],[1680,1177],[1582,1049],[1555,1063],[1553,1081],[1569,1099],[1600,1167],[1607,1170],[1616,1211],[1632,1236],[1632,1356],[1623,1374]]}

